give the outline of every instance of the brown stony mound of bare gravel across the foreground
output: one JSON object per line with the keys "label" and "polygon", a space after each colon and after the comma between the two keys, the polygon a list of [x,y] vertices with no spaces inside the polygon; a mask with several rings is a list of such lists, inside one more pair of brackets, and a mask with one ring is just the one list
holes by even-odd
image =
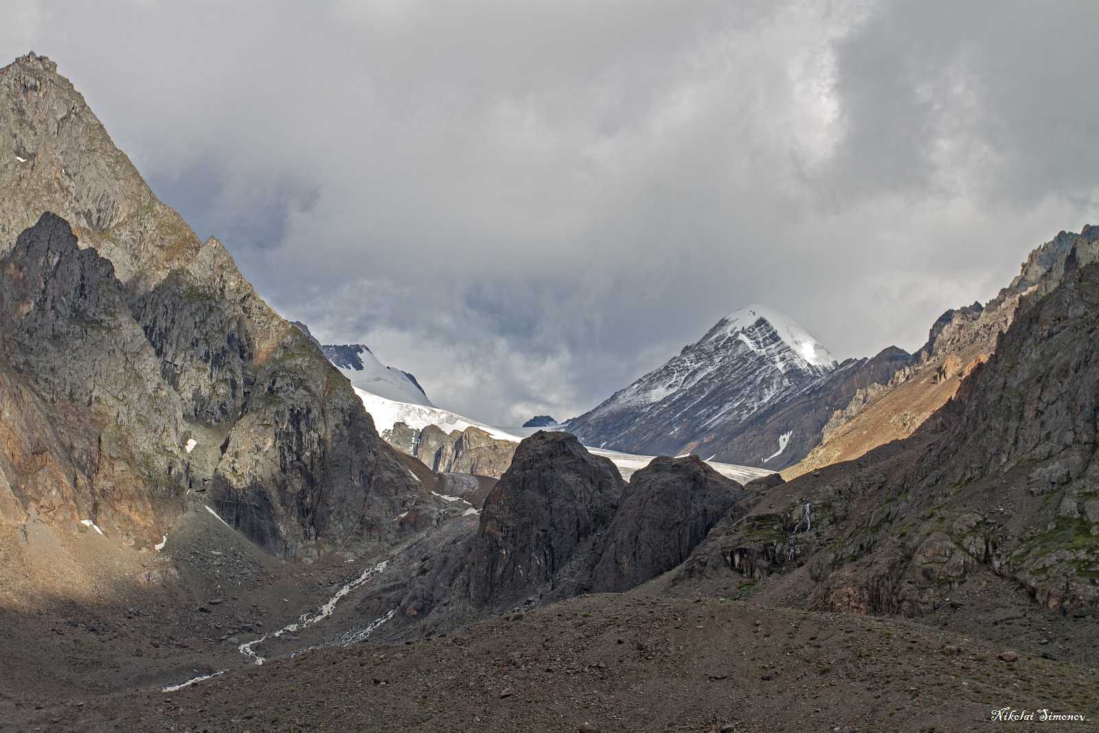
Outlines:
{"label": "brown stony mound of bare gravel across the foreground", "polygon": [[[1099,670],[893,619],[642,592],[155,689],[8,704],[0,730],[1090,730]],[[1007,658],[1011,658],[1008,656]],[[999,708],[1087,722],[990,722]],[[587,725],[587,728],[584,728]]]}

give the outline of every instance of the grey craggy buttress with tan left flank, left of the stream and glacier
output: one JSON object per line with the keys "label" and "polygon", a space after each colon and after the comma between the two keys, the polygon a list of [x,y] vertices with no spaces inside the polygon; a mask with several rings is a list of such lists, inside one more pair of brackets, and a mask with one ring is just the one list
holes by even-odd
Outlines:
{"label": "grey craggy buttress with tan left flank, left of the stream and glacier", "polygon": [[297,329],[287,335],[255,365],[210,497],[230,524],[278,554],[311,553],[320,540],[384,546],[415,482],[347,381]]}

